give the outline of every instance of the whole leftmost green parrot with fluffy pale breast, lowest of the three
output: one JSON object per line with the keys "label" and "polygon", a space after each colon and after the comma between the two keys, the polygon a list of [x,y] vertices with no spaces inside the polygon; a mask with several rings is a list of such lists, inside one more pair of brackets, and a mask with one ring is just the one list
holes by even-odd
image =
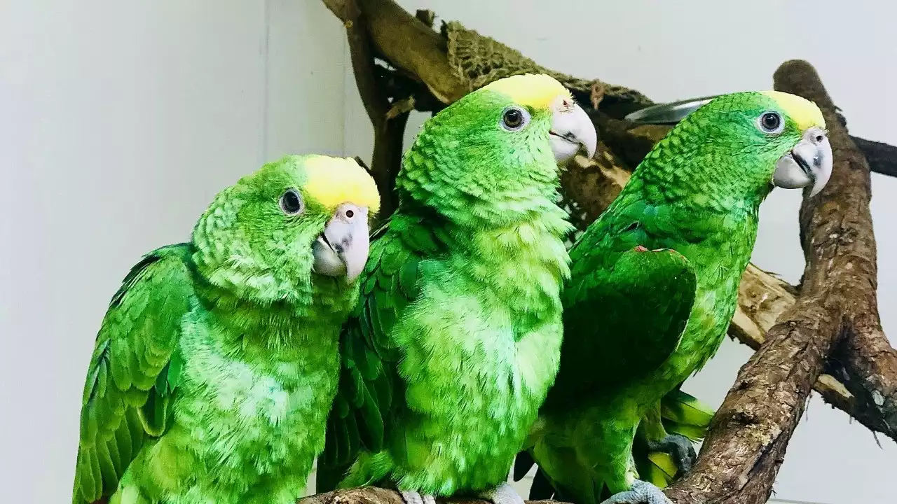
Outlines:
{"label": "whole leftmost green parrot with fluffy pale breast, lowest of the three", "polygon": [[324,449],[339,333],[379,209],[352,159],[290,155],[214,196],[109,302],[73,504],[293,504]]}

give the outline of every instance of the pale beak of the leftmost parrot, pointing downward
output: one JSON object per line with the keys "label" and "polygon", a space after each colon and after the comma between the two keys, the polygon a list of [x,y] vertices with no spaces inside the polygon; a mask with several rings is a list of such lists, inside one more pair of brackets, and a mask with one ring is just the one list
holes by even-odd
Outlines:
{"label": "pale beak of the leftmost parrot, pointing downward", "polygon": [[368,262],[368,235],[368,209],[350,203],[339,205],[312,245],[314,272],[345,276],[346,282],[353,282]]}

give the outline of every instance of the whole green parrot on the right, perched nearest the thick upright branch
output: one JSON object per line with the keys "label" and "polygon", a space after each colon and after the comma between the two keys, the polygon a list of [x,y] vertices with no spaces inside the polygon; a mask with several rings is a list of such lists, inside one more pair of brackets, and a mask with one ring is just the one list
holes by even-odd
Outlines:
{"label": "whole green parrot on the right, perched nearest the thick upright branch", "polygon": [[661,399],[722,342],[772,187],[812,196],[827,182],[824,128],[812,102],[787,93],[712,100],[649,152],[570,249],[561,370],[529,439],[559,499],[668,502],[635,479],[641,419],[655,430],[650,449],[687,468],[690,439],[657,439]]}

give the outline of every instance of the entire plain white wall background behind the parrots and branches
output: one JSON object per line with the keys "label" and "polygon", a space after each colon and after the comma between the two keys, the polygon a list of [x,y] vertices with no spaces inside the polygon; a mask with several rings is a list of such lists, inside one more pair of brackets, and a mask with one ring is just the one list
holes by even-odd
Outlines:
{"label": "entire plain white wall background behind the parrots and branches", "polygon": [[[399,3],[654,100],[768,89],[779,63],[806,58],[852,134],[897,143],[890,4]],[[317,0],[0,3],[0,139],[0,500],[27,503],[70,499],[84,372],[128,267],[188,239],[214,193],[264,161],[371,147],[344,31]],[[893,256],[897,180],[873,175],[873,190],[880,256]],[[764,204],[753,255],[790,282],[799,197]],[[897,263],[879,267],[893,334]],[[725,343],[685,389],[718,405],[749,354]],[[814,397],[776,497],[893,502],[897,447],[880,441]]]}

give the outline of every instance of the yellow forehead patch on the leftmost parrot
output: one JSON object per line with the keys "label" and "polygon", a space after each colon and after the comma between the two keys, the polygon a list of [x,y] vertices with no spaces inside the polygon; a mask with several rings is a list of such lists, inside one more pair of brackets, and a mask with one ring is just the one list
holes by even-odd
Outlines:
{"label": "yellow forehead patch on the leftmost parrot", "polygon": [[305,169],[305,191],[319,204],[335,209],[340,204],[366,206],[370,213],[380,209],[377,184],[352,158],[311,155],[301,161]]}

